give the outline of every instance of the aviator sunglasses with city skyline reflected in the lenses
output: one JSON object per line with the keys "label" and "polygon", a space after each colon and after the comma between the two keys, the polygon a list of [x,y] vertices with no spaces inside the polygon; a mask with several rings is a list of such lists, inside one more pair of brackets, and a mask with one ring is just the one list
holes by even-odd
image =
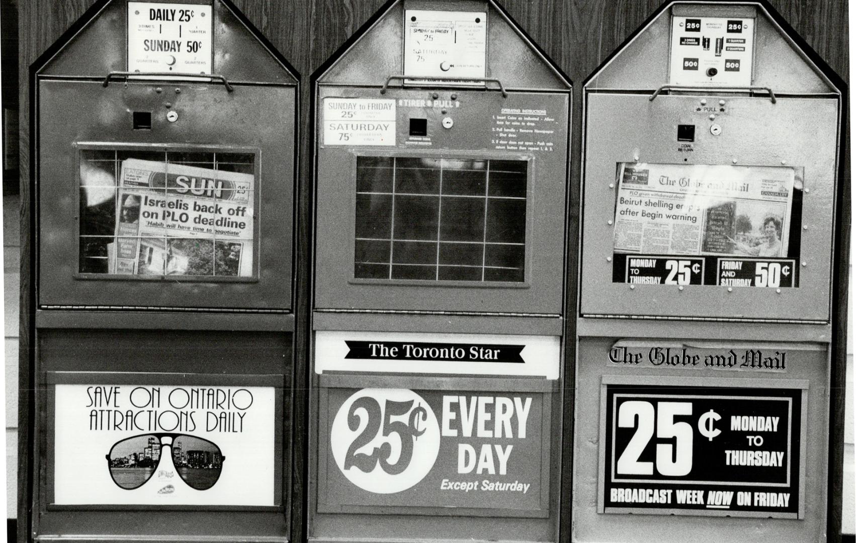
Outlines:
{"label": "aviator sunglasses with city skyline reflected in the lenses", "polygon": [[163,446],[169,446],[175,471],[188,487],[208,490],[217,483],[226,459],[220,447],[193,435],[153,433],[134,435],[110,447],[105,457],[116,486],[134,490],[145,485],[158,469]]}

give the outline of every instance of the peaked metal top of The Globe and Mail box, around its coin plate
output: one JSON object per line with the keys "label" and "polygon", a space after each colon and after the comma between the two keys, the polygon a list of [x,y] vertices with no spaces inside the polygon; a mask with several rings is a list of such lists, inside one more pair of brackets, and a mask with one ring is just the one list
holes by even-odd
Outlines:
{"label": "peaked metal top of The Globe and Mail box, around its coin plate", "polygon": [[752,86],[767,87],[776,94],[840,94],[846,87],[766,0],[664,3],[586,79],[583,87],[654,91],[669,85],[673,15],[754,18]]}

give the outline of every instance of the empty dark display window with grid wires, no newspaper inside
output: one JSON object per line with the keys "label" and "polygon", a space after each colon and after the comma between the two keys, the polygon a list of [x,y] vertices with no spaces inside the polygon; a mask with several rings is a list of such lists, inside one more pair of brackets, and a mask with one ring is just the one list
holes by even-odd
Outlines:
{"label": "empty dark display window with grid wires, no newspaper inside", "polygon": [[354,277],[524,281],[527,162],[358,156]]}

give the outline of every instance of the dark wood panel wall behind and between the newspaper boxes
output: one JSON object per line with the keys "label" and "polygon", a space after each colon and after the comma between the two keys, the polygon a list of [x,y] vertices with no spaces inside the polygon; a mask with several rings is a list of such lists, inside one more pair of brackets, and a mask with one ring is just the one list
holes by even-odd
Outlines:
{"label": "dark wood panel wall behind and between the newspaper boxes", "polygon": [[[571,217],[570,224],[575,228],[579,217],[579,185],[580,185],[580,133],[581,133],[581,97],[580,87],[583,80],[594,71],[609,54],[615,50],[645,19],[648,18],[660,5],[661,0],[499,0],[508,10],[508,13],[517,21],[521,27],[553,58],[554,61],[574,80],[574,126],[572,147],[572,176],[571,176]],[[26,0],[20,4],[20,72],[21,72],[21,357],[26,363],[28,352],[32,349],[33,331],[30,329],[30,316],[32,314],[32,303],[30,298],[30,284],[32,270],[29,267],[33,254],[31,246],[32,239],[29,233],[29,207],[31,190],[29,188],[30,158],[29,158],[29,97],[27,91],[28,67],[35,59],[57,38],[60,37],[71,24],[88,9],[94,0]],[[312,186],[312,152],[309,149],[309,138],[311,136],[312,120],[309,116],[309,106],[312,103],[311,88],[309,85],[310,75],[332,55],[345,40],[350,37],[362,24],[383,5],[383,0],[234,0],[239,9],[247,15],[250,21],[270,39],[270,42],[282,52],[289,62],[303,76],[302,86],[302,111],[300,115],[300,127],[302,130],[302,141],[300,146],[300,210],[299,227],[301,233],[309,232],[309,212],[307,205],[310,202],[309,193]],[[833,68],[843,80],[849,80],[848,71],[848,40],[847,40],[847,0],[770,0],[773,7],[794,27],[796,32],[817,51],[831,68]],[[849,128],[847,128],[849,133]],[[846,159],[846,172],[844,184],[844,201],[850,200],[849,163]],[[849,209],[849,206],[847,206]],[[847,247],[849,247],[849,213],[844,217],[845,223],[841,227],[839,235],[839,249],[841,252],[842,265],[839,276],[847,278]],[[577,236],[571,233],[569,239],[575,240]],[[308,284],[306,273],[310,245],[306,235],[300,236],[297,246],[297,262],[300,285],[298,288],[299,298],[296,306],[298,315],[298,333],[295,337],[295,352],[297,361],[306,360],[306,339],[308,331],[306,321],[302,316],[307,314]],[[576,246],[569,248],[568,265],[570,273],[568,276],[568,292],[574,292],[576,285]],[[838,383],[843,386],[843,368],[845,366],[845,345],[843,328],[846,326],[847,318],[847,285],[843,285],[843,291],[835,293],[835,297],[841,303],[835,308],[838,326],[836,330],[836,343],[840,346],[841,359],[836,362],[841,368],[841,376]],[[573,308],[573,305],[569,305]],[[568,319],[573,321],[573,319]],[[573,337],[574,330],[566,330],[568,337]],[[574,367],[573,349],[568,350],[566,367]],[[22,366],[26,367],[26,366]],[[306,387],[300,387],[300,383],[306,383],[305,364],[297,364],[299,375],[297,378],[298,402],[306,401]],[[570,375],[573,377],[573,375]],[[835,384],[835,376],[834,376]],[[20,387],[26,391],[32,386],[32,375],[21,372]],[[573,383],[573,379],[567,382]],[[837,416],[844,416],[843,388],[841,393],[834,396],[834,406]],[[566,396],[566,420],[570,414],[570,406],[573,405],[573,388],[568,389]],[[26,401],[26,398],[21,398]],[[303,424],[304,422],[300,422]],[[26,412],[21,412],[19,424],[27,426]],[[306,435],[306,428],[295,428],[294,435],[302,440]],[[26,434],[26,430],[25,430]],[[27,437],[21,434],[22,437]],[[842,440],[841,435],[832,435],[833,443],[838,444]],[[303,463],[306,451],[305,443],[295,443],[297,454],[294,467],[303,471]],[[573,447],[565,447],[565,465],[568,465],[570,452]],[[841,447],[836,452],[841,457]],[[28,488],[27,463],[30,457],[27,451],[27,439],[19,443],[18,452],[19,487]],[[11,465],[15,465],[12,458]],[[839,460],[838,465],[841,465]],[[305,488],[301,481],[295,481],[294,500],[303,500]],[[568,487],[569,492],[569,485]],[[830,527],[841,526],[841,474],[830,474]],[[563,503],[568,496],[563,497]],[[565,508],[569,509],[569,508]],[[19,504],[18,516],[24,519],[27,516],[27,504]],[[568,534],[569,517],[562,518],[562,532]],[[293,540],[303,540],[305,534],[300,522],[295,523]],[[21,522],[20,529],[26,529],[26,522]],[[837,528],[832,533],[835,534]],[[20,534],[20,532],[19,532]],[[835,539],[835,538],[833,538]]]}

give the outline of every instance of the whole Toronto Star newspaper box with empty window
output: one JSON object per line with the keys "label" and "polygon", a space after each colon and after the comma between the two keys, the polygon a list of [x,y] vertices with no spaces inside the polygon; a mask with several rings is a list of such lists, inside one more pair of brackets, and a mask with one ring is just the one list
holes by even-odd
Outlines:
{"label": "whole Toronto Star newspaper box with empty window", "polygon": [[405,0],[313,82],[309,539],[556,541],[570,81]]}

